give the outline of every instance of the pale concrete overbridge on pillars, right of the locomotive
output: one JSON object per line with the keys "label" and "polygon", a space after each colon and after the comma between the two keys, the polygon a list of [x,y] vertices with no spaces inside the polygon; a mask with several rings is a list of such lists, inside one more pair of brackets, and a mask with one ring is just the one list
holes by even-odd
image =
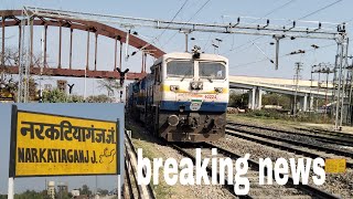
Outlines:
{"label": "pale concrete overbridge on pillars, right of the locomotive", "polygon": [[[272,92],[296,96],[299,109],[312,109],[314,98],[330,98],[333,85],[331,83],[320,84],[318,81],[289,78],[271,78],[255,76],[229,76],[229,88],[249,90],[249,104],[252,109],[261,108],[263,92]],[[295,97],[291,97],[292,101]],[[309,107],[308,107],[309,105]]]}

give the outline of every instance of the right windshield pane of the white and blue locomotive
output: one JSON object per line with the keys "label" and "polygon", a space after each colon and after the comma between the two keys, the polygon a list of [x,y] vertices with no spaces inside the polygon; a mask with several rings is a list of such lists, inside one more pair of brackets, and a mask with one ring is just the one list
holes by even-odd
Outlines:
{"label": "right windshield pane of the white and blue locomotive", "polygon": [[206,78],[225,78],[225,66],[215,62],[200,62],[199,63],[200,77]]}

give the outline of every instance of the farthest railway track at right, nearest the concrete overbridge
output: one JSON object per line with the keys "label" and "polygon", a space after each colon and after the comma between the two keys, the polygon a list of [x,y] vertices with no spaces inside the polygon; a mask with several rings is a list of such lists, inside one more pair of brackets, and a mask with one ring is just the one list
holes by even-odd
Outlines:
{"label": "farthest railway track at right, nearest the concrete overbridge", "polygon": [[344,133],[338,133],[338,132],[327,133],[327,132],[310,130],[304,128],[297,128],[300,132],[290,132],[290,130],[276,129],[276,128],[264,127],[264,126],[235,123],[235,122],[228,122],[228,124],[233,126],[244,126],[249,128],[265,129],[265,130],[270,130],[270,132],[276,132],[276,133],[281,133],[287,135],[301,135],[301,136],[314,138],[322,143],[353,147],[353,135],[344,134]]}

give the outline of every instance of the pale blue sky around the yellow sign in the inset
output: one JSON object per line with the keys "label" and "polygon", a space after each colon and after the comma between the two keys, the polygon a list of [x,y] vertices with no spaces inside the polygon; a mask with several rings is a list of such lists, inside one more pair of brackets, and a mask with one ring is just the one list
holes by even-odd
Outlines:
{"label": "pale blue sky around the yellow sign in the inset", "polygon": [[[52,113],[65,116],[77,116],[83,118],[96,118],[105,121],[124,121],[124,104],[18,104],[18,109],[35,111],[40,113]],[[98,113],[98,114],[97,114]],[[9,155],[10,155],[10,125],[11,124],[11,104],[0,104],[0,195],[8,191],[9,179]],[[124,130],[120,126],[120,132]],[[120,138],[122,145],[122,138]],[[122,151],[121,151],[122,153]],[[121,163],[122,164],[122,163]],[[68,189],[81,188],[87,185],[90,190],[95,190],[96,177],[40,177],[40,178],[15,178],[15,193],[30,190],[44,190],[46,181],[67,182]],[[108,190],[117,186],[117,176],[98,176],[97,187]]]}

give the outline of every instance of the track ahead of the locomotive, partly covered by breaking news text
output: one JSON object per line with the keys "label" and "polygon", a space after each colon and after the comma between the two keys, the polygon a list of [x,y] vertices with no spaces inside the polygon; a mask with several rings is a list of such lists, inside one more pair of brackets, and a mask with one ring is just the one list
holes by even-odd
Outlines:
{"label": "track ahead of the locomotive, partly covered by breaking news text", "polygon": [[[218,156],[223,156],[224,158],[229,157],[233,160],[240,158],[242,156],[238,154],[235,154],[231,150],[227,150],[221,146],[211,144],[211,143],[203,143],[203,157],[207,157],[207,155],[211,155],[211,148],[216,148],[218,151]],[[178,151],[180,151],[183,156],[186,156],[191,158],[193,161],[195,161],[194,148],[183,148],[179,145],[172,145],[173,148],[175,148]],[[206,154],[206,155],[205,155]],[[257,161],[249,159],[249,169],[247,172],[247,177],[250,181],[250,190],[248,195],[246,196],[237,196],[239,198],[277,198],[277,197],[285,197],[285,198],[338,198],[334,195],[331,195],[329,192],[325,192],[324,190],[320,190],[313,186],[310,185],[293,185],[292,178],[289,177],[288,184],[286,186],[280,185],[258,185],[258,168],[259,165]],[[211,174],[211,166],[207,167],[208,174]],[[272,174],[274,175],[274,174]],[[217,174],[218,176],[218,174]],[[232,193],[234,193],[234,187],[233,185],[228,185],[225,182],[225,188],[227,188]],[[234,195],[236,196],[236,195]]]}

